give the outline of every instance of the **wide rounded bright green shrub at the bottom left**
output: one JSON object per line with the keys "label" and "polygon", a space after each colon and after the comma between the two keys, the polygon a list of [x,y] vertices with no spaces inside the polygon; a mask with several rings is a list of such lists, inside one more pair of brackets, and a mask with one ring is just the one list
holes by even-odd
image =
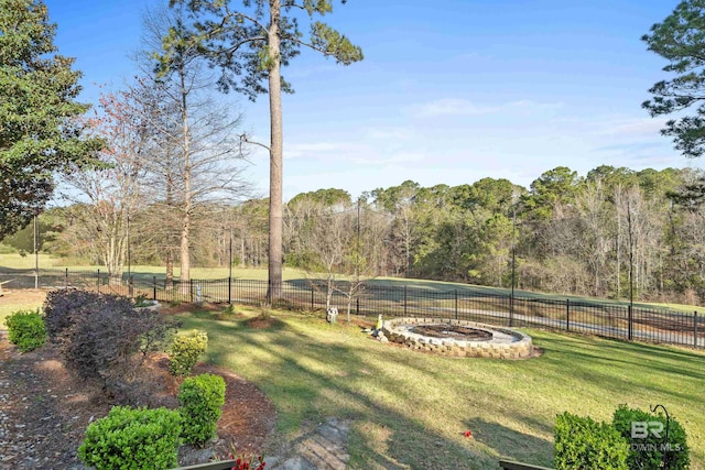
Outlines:
{"label": "wide rounded bright green shrub at the bottom left", "polygon": [[174,468],[181,430],[178,412],[113,406],[88,426],[78,458],[98,470]]}

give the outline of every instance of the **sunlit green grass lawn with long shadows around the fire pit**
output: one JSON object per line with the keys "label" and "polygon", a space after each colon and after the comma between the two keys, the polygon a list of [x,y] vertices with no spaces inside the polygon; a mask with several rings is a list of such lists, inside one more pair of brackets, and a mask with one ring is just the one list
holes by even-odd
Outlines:
{"label": "sunlit green grass lawn with long shadows around the fire pit", "polygon": [[556,414],[607,420],[621,403],[666,406],[688,434],[692,468],[705,464],[701,352],[529,330],[540,358],[451,359],[384,346],[344,323],[274,316],[267,330],[213,313],[182,318],[208,331],[208,361],[274,402],[276,440],[349,419],[352,468],[496,469],[500,457],[551,466]]}

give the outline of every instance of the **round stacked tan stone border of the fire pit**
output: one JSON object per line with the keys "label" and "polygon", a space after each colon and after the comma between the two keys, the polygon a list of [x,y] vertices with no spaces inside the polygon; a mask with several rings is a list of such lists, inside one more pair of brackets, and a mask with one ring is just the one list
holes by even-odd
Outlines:
{"label": "round stacked tan stone border of the fire pit", "polygon": [[[513,337],[511,342],[464,341],[452,338],[431,338],[398,328],[402,325],[457,325],[476,328],[489,332],[500,331]],[[532,356],[531,337],[521,331],[509,328],[495,327],[476,321],[455,320],[444,318],[393,318],[382,324],[382,332],[390,341],[406,346],[419,351],[429,351],[442,356],[456,358],[495,358],[495,359],[527,359]]]}

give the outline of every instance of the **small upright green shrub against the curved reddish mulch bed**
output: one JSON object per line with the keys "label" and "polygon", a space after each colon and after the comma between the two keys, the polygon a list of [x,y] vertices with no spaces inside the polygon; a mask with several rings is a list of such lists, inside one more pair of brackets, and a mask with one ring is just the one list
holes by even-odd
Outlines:
{"label": "small upright green shrub against the curved reddish mulch bed", "polygon": [[220,375],[202,374],[187,378],[178,389],[180,412],[187,442],[203,444],[216,436],[225,404],[225,381]]}

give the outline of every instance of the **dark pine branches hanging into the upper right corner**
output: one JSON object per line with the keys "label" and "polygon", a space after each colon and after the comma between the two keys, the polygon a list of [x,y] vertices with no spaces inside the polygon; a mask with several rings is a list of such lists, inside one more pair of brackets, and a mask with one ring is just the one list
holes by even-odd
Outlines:
{"label": "dark pine branches hanging into the upper right corner", "polygon": [[682,1],[642,40],[669,62],[663,70],[674,75],[653,85],[653,98],[642,106],[652,117],[695,107],[694,114],[669,120],[661,133],[672,136],[683,155],[699,157],[705,152],[705,0]]}

